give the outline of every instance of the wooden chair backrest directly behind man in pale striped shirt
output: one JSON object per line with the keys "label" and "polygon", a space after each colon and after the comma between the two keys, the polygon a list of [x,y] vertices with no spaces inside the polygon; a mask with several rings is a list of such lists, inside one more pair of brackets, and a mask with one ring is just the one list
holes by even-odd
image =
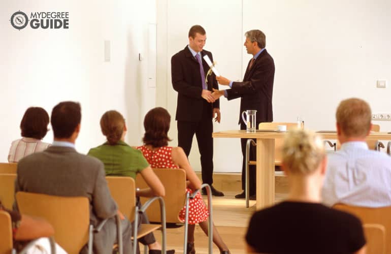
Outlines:
{"label": "wooden chair backrest directly behind man in pale striped shirt", "polygon": [[333,208],[356,215],[363,224],[380,224],[384,226],[385,242],[387,243],[386,253],[391,254],[391,206],[371,208],[336,204]]}

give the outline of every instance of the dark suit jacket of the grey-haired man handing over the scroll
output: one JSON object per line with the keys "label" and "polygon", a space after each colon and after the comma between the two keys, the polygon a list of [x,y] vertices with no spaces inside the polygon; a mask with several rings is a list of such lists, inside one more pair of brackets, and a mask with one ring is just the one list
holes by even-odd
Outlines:
{"label": "dark suit jacket of the grey-haired man handing over the scroll", "polygon": [[[251,61],[251,60],[250,60]],[[245,110],[256,110],[256,122],[272,122],[274,61],[266,51],[262,51],[249,70],[248,62],[243,82],[233,82],[227,89],[227,99],[240,99],[239,123]]]}

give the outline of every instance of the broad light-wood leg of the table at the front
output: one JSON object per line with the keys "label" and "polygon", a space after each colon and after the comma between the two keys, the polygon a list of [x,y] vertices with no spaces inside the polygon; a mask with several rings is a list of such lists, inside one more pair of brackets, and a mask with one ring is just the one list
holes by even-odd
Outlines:
{"label": "broad light-wood leg of the table at the front", "polygon": [[256,210],[274,205],[274,139],[256,139]]}

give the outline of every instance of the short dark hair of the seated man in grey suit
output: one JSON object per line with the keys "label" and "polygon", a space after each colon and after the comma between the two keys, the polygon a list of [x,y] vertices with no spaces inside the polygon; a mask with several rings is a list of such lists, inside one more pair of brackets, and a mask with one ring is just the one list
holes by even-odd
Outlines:
{"label": "short dark hair of the seated man in grey suit", "polygon": [[50,122],[55,138],[70,138],[81,120],[78,102],[60,102],[54,106]]}

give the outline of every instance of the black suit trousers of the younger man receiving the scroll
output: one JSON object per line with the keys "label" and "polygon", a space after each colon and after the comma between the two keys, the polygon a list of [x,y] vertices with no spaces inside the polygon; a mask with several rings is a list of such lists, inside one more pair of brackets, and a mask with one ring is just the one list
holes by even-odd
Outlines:
{"label": "black suit trousers of the younger man receiving the scroll", "polygon": [[198,149],[201,154],[202,182],[213,183],[213,123],[212,106],[204,100],[201,120],[198,122],[179,121],[178,146],[189,156],[193,136],[196,134]]}

